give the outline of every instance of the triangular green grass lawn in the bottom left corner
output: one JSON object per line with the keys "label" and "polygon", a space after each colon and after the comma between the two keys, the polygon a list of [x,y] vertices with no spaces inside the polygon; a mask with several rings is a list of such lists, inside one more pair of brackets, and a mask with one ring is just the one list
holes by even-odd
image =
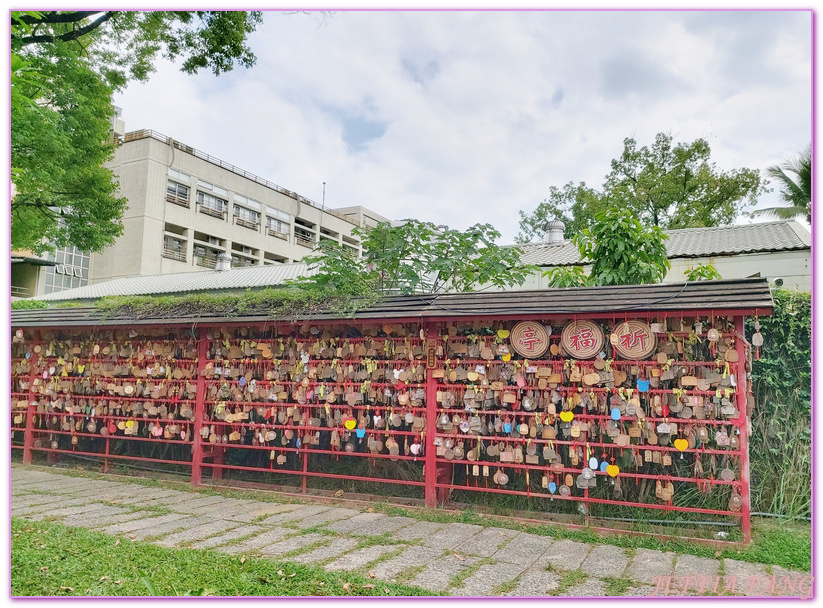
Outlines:
{"label": "triangular green grass lawn in the bottom left corner", "polygon": [[167,549],[50,522],[12,518],[11,533],[12,596],[432,595],[321,567]]}

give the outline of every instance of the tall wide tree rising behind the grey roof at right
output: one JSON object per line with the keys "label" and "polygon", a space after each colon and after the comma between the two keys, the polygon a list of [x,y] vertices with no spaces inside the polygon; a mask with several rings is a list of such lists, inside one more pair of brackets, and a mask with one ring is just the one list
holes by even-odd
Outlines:
{"label": "tall wide tree rising behind the grey roof at right", "polygon": [[664,230],[729,224],[763,192],[757,170],[718,169],[704,139],[675,144],[671,134],[659,133],[651,147],[638,149],[627,138],[601,190],[572,182],[552,187],[537,209],[520,212],[517,241],[534,240],[551,219],[562,220],[570,238],[608,208],[629,209],[644,226]]}

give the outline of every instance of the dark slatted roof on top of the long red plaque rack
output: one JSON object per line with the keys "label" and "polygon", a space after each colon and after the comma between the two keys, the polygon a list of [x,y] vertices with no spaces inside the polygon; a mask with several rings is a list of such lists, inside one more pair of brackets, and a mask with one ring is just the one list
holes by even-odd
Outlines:
{"label": "dark slatted roof on top of the long red plaque rack", "polygon": [[[321,313],[314,320],[345,319],[453,319],[483,317],[487,319],[546,318],[575,314],[607,315],[623,312],[678,312],[758,310],[769,314],[774,307],[768,279],[731,279],[693,283],[657,285],[620,285],[613,287],[579,287],[539,291],[469,292],[441,295],[395,296],[386,298],[353,315]],[[51,308],[13,310],[12,327],[57,327],[81,325],[167,325],[197,323],[237,323],[292,321],[261,313],[236,317],[200,314],[171,318],[104,319],[95,308]],[[301,319],[303,320],[303,319]]]}

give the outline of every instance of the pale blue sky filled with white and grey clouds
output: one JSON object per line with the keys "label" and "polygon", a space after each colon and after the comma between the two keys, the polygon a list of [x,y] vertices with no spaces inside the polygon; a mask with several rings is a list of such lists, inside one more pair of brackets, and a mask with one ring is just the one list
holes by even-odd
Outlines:
{"label": "pale blue sky filled with white and grey clouds", "polygon": [[[812,137],[810,11],[266,12],[251,69],[157,62],[115,96],[153,129],[328,207],[450,228],[600,187],[623,140],[708,141],[722,170]],[[777,193],[759,207],[780,204]],[[741,219],[748,222],[748,219]]]}

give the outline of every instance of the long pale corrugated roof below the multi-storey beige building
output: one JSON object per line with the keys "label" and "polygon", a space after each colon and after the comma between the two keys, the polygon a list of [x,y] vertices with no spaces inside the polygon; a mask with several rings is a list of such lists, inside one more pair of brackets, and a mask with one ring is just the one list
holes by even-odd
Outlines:
{"label": "long pale corrugated roof below the multi-storey beige building", "polygon": [[75,287],[32,298],[33,300],[88,300],[105,296],[138,296],[190,291],[212,291],[219,289],[246,289],[247,287],[270,287],[283,285],[289,279],[311,276],[306,264],[273,264],[271,266],[248,266],[231,270],[201,270],[195,272],[175,272],[167,274],[139,275],[113,279],[84,287]]}

